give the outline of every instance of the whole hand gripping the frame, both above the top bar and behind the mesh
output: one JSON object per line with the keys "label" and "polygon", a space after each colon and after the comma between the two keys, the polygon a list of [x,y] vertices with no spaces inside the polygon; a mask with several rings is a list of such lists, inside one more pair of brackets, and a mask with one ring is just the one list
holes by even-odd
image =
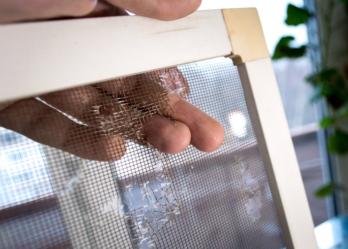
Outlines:
{"label": "whole hand gripping the frame, both above the top bar and behind the mesh", "polygon": [[[6,2],[8,4],[12,0],[2,1],[0,4],[3,5]],[[30,5],[28,2],[41,4],[41,7],[35,10],[31,6],[30,10],[28,10],[26,9]],[[80,15],[85,14],[82,11],[84,10],[83,6],[88,7],[88,3],[92,4],[92,2],[96,4],[93,0],[53,0],[50,1],[50,4],[53,4],[50,7],[43,4],[43,2],[43,0],[27,1],[24,3],[25,6],[22,6],[22,12],[26,12],[26,15],[21,15],[20,11],[18,15],[17,11],[17,16],[12,15],[15,18],[11,19],[7,15],[6,20],[5,15],[5,21]],[[71,6],[72,2],[79,7]],[[126,7],[136,14],[162,20],[172,20],[194,11],[198,7],[200,0],[183,1],[184,3],[182,4],[180,4],[181,0],[146,0],[141,5],[134,5],[135,2],[133,0],[110,0],[110,2]],[[55,7],[53,8],[52,6]],[[64,12],[68,6],[72,12]],[[95,6],[94,9],[92,8],[93,11],[90,15],[117,14],[120,12],[114,5],[104,1],[99,1]],[[47,8],[52,8],[54,11],[49,11]],[[78,9],[84,13],[77,13]],[[29,15],[27,15],[28,13]],[[157,73],[157,75],[159,74]],[[179,75],[181,76],[181,81],[185,82],[182,75],[180,73]],[[113,161],[123,156],[126,150],[125,139],[130,138],[129,134],[136,129],[142,130],[142,134],[138,134],[137,137],[132,138],[133,140],[141,144],[149,142],[157,149],[166,153],[180,152],[190,143],[205,152],[213,151],[221,145],[224,131],[217,121],[185,101],[182,98],[183,95],[180,97],[176,93],[169,93],[168,90],[159,88],[156,83],[160,82],[158,77],[154,76],[151,79],[149,74],[142,74],[137,77],[138,81],[134,80],[134,77],[127,77],[111,82],[99,83],[94,86],[84,86],[40,96],[41,100],[46,101],[49,105],[74,117],[85,125],[77,124],[63,116],[56,109],[35,98],[0,103],[0,125],[22,133],[37,142],[68,151],[74,155],[103,161]],[[146,84],[139,85],[139,77],[142,79],[141,82],[144,82],[144,79],[146,79],[146,84],[150,82],[152,88]],[[124,86],[127,86],[127,91],[122,92]],[[152,89],[151,91],[148,91],[149,87]],[[163,94],[161,95],[159,92]],[[121,96],[119,95],[120,93]],[[155,102],[157,101],[156,103],[163,100],[161,96],[166,95],[166,101],[163,102],[165,105],[160,106],[163,113],[158,112],[158,110],[152,110],[149,115],[148,111],[144,111],[144,107],[138,106],[134,108],[134,105],[140,104],[134,98],[137,94],[139,96],[139,93],[141,93],[140,100],[149,98],[155,100]],[[105,96],[109,96],[109,99],[105,98]],[[119,98],[128,98],[127,104],[118,103]],[[133,103],[129,103],[129,101],[133,101]],[[127,109],[129,105],[132,108],[129,109],[127,114],[115,115],[120,110]],[[96,107],[98,109],[95,109]],[[137,118],[133,119],[134,116],[137,116]],[[109,126],[101,125],[101,118],[105,117],[112,121],[111,126],[110,124]],[[130,119],[136,120],[135,127],[127,125]],[[105,127],[111,129],[111,131],[106,132]]]}

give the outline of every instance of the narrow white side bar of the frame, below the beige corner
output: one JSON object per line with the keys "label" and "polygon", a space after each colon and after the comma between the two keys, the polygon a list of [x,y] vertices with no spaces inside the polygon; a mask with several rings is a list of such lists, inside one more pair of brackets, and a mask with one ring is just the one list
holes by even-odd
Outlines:
{"label": "narrow white side bar of the frame, below the beige corner", "polygon": [[318,248],[311,212],[269,58],[238,65],[287,248]]}

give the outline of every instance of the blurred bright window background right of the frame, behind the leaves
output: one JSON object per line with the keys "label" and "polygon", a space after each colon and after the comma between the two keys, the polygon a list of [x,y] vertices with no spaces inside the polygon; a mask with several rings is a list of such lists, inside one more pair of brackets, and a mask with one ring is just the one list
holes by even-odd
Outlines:
{"label": "blurred bright window background right of the frame, behind the leaves", "polygon": [[[286,24],[289,4],[308,11],[309,19],[297,26]],[[345,0],[203,0],[200,7],[201,10],[256,7],[270,55],[282,36],[295,38],[290,47],[307,46],[307,51],[299,58],[284,57],[272,63],[315,226],[347,214],[348,156],[344,148],[348,140],[345,133],[337,143],[338,150],[329,152],[329,137],[336,134],[337,127],[331,124],[333,128],[323,129],[319,124],[325,126],[321,120],[334,116],[335,108],[325,98],[311,101],[318,94],[318,88],[313,88],[305,79],[322,68],[333,66],[343,75],[347,74],[347,5]],[[297,12],[295,17],[301,15]],[[347,94],[347,75],[343,85],[340,88]],[[347,105],[347,100],[344,101]],[[348,127],[347,111],[345,113],[341,130]]]}

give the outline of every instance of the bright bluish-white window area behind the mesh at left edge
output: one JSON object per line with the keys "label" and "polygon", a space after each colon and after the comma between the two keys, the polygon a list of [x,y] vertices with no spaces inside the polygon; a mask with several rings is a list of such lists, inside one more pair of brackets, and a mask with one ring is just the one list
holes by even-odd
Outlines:
{"label": "bright bluish-white window area behind the mesh at left edge", "polygon": [[39,144],[0,127],[0,209],[53,195]]}

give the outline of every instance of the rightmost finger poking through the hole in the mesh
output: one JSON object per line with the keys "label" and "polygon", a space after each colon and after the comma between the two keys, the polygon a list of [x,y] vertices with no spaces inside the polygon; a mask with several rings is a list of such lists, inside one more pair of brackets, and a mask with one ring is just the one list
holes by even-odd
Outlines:
{"label": "rightmost finger poking through the hole in the mesh", "polygon": [[219,122],[158,83],[137,81],[124,96],[139,109],[170,117],[188,126],[191,144],[203,152],[216,150],[224,140],[224,129]]}

